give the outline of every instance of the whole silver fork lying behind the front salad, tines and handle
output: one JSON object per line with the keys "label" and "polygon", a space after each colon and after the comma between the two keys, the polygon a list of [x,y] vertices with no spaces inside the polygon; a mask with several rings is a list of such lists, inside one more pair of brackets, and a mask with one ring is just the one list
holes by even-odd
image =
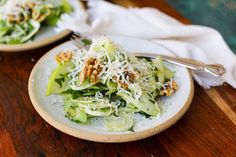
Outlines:
{"label": "whole silver fork lying behind the front salad, tines and handle", "polygon": [[[78,33],[73,33],[70,38],[71,42],[79,48],[84,47],[81,43],[81,39],[83,38]],[[162,47],[167,49],[164,46]],[[169,49],[167,50],[170,51]],[[144,57],[151,57],[151,58],[160,56],[166,62],[180,65],[180,66],[183,66],[188,69],[195,70],[195,71],[207,72],[213,76],[222,76],[226,72],[224,66],[221,64],[206,64],[206,63],[193,60],[193,59],[188,59],[188,58],[171,57],[171,56],[165,56],[165,55],[158,55],[154,53],[142,53],[142,52],[134,52],[134,53],[130,53],[130,55],[140,56],[140,57],[144,56]]]}

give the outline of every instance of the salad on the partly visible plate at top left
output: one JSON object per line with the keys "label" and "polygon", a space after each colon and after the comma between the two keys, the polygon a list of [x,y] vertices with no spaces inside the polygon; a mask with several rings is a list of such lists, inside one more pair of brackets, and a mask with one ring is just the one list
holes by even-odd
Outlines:
{"label": "salad on the partly visible plate at top left", "polygon": [[43,0],[8,0],[1,5],[0,44],[29,42],[41,26],[54,26],[63,13],[72,11],[67,0],[60,5]]}

